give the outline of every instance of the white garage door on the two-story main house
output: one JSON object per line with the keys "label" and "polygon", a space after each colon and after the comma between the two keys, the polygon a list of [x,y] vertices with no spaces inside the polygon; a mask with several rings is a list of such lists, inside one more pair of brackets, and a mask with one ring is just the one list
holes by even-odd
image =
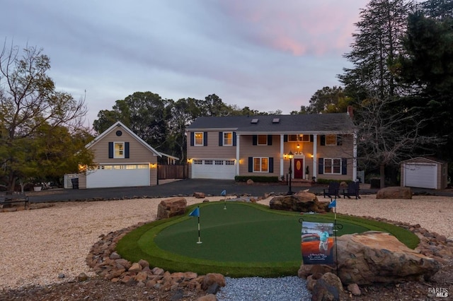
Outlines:
{"label": "white garage door on the two-story main house", "polygon": [[236,161],[226,159],[193,159],[193,179],[234,179]]}

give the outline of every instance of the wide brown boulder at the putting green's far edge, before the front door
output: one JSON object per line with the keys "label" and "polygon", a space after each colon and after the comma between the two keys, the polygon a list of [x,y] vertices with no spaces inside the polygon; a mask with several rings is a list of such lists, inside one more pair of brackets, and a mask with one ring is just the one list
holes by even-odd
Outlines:
{"label": "wide brown boulder at the putting green's far edge, before the front door", "polygon": [[328,212],[328,202],[318,200],[316,194],[308,191],[300,191],[297,194],[288,196],[275,196],[269,202],[269,207],[275,210],[297,211],[297,212]]}

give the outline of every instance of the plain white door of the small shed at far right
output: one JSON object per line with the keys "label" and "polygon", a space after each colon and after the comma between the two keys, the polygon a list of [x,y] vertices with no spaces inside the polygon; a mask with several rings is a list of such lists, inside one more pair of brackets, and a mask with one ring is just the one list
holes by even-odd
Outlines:
{"label": "plain white door of the small shed at far right", "polygon": [[404,186],[437,188],[437,165],[406,163],[404,165]]}

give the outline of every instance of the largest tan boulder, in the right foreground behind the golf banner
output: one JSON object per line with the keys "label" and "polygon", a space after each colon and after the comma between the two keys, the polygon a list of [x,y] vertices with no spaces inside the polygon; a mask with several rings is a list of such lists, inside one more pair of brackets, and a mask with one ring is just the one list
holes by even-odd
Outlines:
{"label": "largest tan boulder, in the right foreground behind the golf banner", "polygon": [[[343,285],[428,281],[440,269],[435,259],[409,249],[386,232],[368,231],[337,237],[338,277]],[[304,265],[299,277],[331,271],[331,266]]]}

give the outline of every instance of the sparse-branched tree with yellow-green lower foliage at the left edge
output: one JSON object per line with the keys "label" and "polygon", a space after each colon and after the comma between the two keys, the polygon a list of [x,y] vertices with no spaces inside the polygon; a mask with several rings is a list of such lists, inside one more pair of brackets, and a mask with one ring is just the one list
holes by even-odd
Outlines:
{"label": "sparse-branched tree with yellow-green lower foliage at the left edge", "polygon": [[[0,53],[0,176],[11,190],[17,179],[61,177],[77,172],[79,163],[92,165],[81,144],[89,138],[83,126],[84,100],[56,91],[48,69],[50,59],[41,49],[25,47],[19,56],[18,47],[8,48],[4,43]],[[74,157],[77,152],[81,153]]]}

